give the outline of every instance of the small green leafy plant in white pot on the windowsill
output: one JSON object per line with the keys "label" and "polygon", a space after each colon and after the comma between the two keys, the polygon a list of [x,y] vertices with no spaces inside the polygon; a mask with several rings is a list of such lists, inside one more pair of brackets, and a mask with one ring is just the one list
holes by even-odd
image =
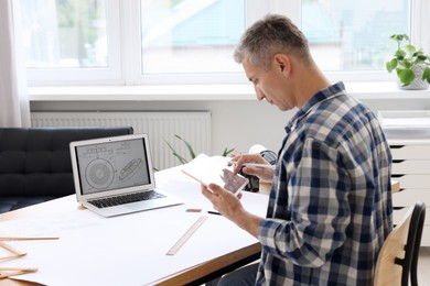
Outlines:
{"label": "small green leafy plant in white pot on the windowsill", "polygon": [[396,70],[399,88],[427,89],[430,84],[429,55],[413,46],[406,34],[395,34],[389,38],[397,42],[397,51],[386,68],[389,73]]}

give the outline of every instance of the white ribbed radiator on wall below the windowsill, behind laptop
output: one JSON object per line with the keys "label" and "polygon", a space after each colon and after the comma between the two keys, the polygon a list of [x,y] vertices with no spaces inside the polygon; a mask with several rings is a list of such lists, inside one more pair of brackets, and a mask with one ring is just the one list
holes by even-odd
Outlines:
{"label": "white ribbed radiator on wall below the windowsill, behind laptop", "polygon": [[32,112],[32,127],[132,127],[135,133],[147,133],[150,139],[153,166],[164,169],[180,165],[169,148],[191,160],[183,142],[186,140],[197,154],[211,154],[211,112]]}

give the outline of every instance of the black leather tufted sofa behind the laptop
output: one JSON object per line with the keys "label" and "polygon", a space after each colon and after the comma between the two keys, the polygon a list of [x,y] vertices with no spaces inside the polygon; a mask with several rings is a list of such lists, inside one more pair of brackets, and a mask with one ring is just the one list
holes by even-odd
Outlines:
{"label": "black leather tufted sofa behind the laptop", "polygon": [[75,194],[69,142],[132,134],[120,128],[0,128],[0,213]]}

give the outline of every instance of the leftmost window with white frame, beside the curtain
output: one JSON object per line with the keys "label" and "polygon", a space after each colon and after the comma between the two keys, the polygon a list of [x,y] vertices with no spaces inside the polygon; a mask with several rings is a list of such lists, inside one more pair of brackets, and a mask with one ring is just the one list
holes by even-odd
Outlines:
{"label": "leftmost window with white frame, beside the curtain", "polygon": [[30,85],[121,84],[117,0],[18,0]]}

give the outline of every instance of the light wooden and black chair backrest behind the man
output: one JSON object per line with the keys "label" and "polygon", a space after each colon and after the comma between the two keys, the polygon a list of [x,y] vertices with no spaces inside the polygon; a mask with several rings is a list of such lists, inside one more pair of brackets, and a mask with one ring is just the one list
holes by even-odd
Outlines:
{"label": "light wooden and black chair backrest behind the man", "polygon": [[424,215],[426,205],[417,201],[387,237],[376,263],[374,285],[406,286],[409,277],[417,282]]}

